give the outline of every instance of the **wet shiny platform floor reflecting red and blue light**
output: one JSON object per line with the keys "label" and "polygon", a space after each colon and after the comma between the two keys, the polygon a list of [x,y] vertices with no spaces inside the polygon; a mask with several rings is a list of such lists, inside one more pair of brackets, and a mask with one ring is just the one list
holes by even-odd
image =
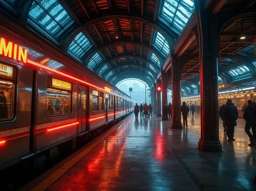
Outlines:
{"label": "wet shiny platform floor reflecting red and blue light", "polygon": [[256,147],[242,119],[231,143],[220,121],[221,153],[198,151],[200,114],[187,130],[155,116],[123,122],[48,190],[253,190]]}

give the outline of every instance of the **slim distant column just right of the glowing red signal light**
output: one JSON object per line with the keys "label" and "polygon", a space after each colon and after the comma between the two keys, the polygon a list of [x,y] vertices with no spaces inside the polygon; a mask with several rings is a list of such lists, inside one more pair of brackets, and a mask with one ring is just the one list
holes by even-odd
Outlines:
{"label": "slim distant column just right of the glowing red signal light", "polygon": [[161,77],[162,77],[162,120],[167,121],[169,120],[168,113],[164,115],[163,108],[167,104],[168,74],[162,71]]}

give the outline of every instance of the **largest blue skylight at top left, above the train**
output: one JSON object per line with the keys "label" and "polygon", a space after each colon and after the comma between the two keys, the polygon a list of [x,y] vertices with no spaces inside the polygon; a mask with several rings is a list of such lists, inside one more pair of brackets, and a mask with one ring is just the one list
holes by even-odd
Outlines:
{"label": "largest blue skylight at top left, above the train", "polygon": [[29,18],[28,22],[37,30],[41,32],[40,29],[43,29],[55,39],[74,22],[74,19],[57,0],[34,0],[29,11]]}

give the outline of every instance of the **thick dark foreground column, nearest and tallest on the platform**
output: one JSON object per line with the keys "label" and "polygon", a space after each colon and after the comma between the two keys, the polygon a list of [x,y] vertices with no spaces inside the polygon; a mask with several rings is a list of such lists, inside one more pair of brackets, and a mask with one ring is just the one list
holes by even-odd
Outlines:
{"label": "thick dark foreground column, nearest and tallest on the platform", "polygon": [[207,152],[222,150],[219,139],[218,107],[218,15],[196,1],[200,58],[201,138],[198,149]]}

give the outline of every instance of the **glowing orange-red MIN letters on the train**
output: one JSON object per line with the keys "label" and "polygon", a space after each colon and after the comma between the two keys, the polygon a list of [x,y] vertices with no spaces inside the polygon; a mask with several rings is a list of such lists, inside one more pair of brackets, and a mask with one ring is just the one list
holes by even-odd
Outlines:
{"label": "glowing orange-red MIN letters on the train", "polygon": [[27,49],[0,38],[0,55],[27,63]]}

